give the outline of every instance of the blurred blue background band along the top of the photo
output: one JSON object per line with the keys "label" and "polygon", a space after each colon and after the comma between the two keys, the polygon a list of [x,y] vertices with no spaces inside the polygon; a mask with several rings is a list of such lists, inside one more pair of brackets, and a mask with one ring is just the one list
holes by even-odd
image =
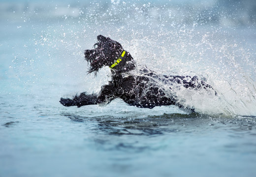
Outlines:
{"label": "blurred blue background band along the top of the photo", "polygon": [[[220,25],[255,24],[255,0],[1,0],[1,20],[47,22],[73,19],[76,24]],[[86,22],[85,22],[86,21]]]}

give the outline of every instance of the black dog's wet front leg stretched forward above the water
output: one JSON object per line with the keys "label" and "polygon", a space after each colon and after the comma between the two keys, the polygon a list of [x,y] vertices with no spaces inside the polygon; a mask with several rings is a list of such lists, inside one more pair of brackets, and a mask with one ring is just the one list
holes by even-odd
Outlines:
{"label": "black dog's wet front leg stretched forward above the water", "polygon": [[86,94],[86,92],[83,92],[79,96],[74,96],[73,99],[61,98],[60,103],[64,106],[77,106],[79,108],[85,105],[97,104],[99,100],[96,94]]}

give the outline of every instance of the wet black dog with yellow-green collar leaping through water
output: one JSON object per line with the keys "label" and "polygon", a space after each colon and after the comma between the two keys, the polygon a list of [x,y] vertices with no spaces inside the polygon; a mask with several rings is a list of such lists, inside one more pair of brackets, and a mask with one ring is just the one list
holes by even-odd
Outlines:
{"label": "wet black dog with yellow-green collar leaping through water", "polygon": [[[146,67],[135,69],[136,64],[131,55],[120,43],[97,36],[95,49],[85,50],[85,59],[90,63],[88,73],[97,72],[103,66],[111,68],[112,80],[101,87],[99,94],[81,93],[73,99],[61,98],[64,106],[93,105],[109,103],[115,98],[121,98],[129,105],[140,108],[154,108],[162,105],[177,105],[179,99],[175,96],[174,87],[186,89],[212,89],[196,76],[166,76],[156,74]],[[190,108],[192,109],[192,108]]]}

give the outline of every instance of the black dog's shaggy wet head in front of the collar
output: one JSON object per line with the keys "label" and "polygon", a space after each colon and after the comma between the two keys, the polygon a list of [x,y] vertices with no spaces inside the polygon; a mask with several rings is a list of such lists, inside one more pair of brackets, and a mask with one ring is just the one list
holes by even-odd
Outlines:
{"label": "black dog's shaggy wet head in front of the collar", "polygon": [[84,52],[85,60],[90,64],[88,73],[97,72],[103,66],[110,66],[123,52],[122,45],[109,37],[98,35],[97,40],[94,49]]}

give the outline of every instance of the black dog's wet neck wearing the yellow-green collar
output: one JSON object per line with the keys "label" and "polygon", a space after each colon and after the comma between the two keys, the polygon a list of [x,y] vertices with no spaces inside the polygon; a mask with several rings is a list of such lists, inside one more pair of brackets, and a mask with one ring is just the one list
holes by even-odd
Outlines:
{"label": "black dog's wet neck wearing the yellow-green collar", "polygon": [[118,74],[135,69],[136,63],[127,51],[123,51],[121,56],[109,67],[113,74]]}

